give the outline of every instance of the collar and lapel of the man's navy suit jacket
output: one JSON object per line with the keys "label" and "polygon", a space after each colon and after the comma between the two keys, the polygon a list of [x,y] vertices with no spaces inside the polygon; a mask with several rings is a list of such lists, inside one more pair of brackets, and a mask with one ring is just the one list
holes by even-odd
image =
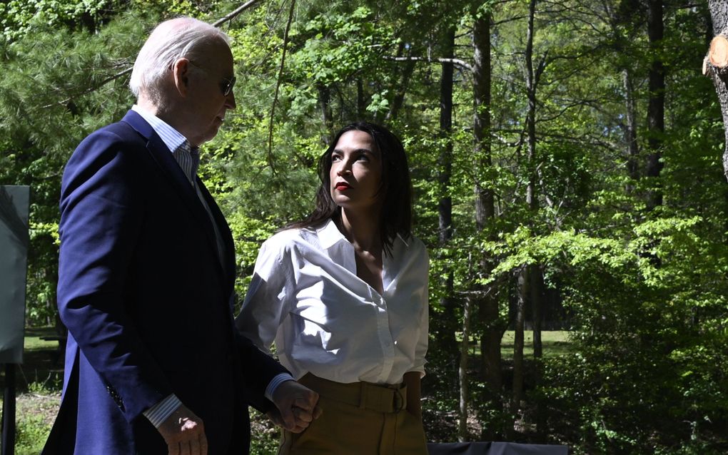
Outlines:
{"label": "collar and lapel of the man's navy suit jacket", "polygon": [[[207,242],[210,248],[212,248],[212,251],[215,252],[215,256],[218,256],[216,253],[218,251],[218,243],[210,216],[207,215],[207,210],[205,210],[205,207],[202,206],[202,202],[199,200],[199,197],[197,197],[197,192],[189,184],[186,175],[175,161],[170,149],[167,148],[167,145],[162,141],[162,138],[159,138],[157,132],[154,132],[154,128],[152,128],[151,125],[135,111],[128,111],[124,116],[124,119],[122,119],[122,122],[130,124],[135,131],[142,135],[143,138],[146,138],[146,148],[149,150],[149,154],[151,154],[151,157],[154,158],[155,162],[157,162],[162,173],[175,188],[175,194],[178,194],[183,199],[185,207],[189,208],[198,223],[197,225],[201,226],[202,230],[205,232],[205,237],[207,237]],[[221,261],[215,261],[215,263],[221,267],[221,276],[225,277],[226,282],[229,282],[229,274],[231,273],[229,264],[232,262],[232,269],[234,269],[235,261],[234,258],[229,257],[234,255],[232,235],[230,234],[230,229],[227,226],[220,209],[217,204],[215,204],[215,201],[212,196],[210,196],[210,193],[207,191],[205,186],[202,185],[202,181],[200,181],[199,178],[197,178],[197,184],[202,190],[205,201],[210,207],[210,211],[213,213],[215,222],[218,223],[218,230],[223,236],[223,243],[225,245],[225,251],[223,251],[223,256],[225,257],[223,258],[223,262],[225,266],[223,267]]]}

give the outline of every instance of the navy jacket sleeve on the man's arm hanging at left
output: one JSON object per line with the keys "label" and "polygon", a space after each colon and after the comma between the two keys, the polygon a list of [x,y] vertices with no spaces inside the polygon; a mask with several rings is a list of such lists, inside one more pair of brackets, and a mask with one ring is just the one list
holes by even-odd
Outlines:
{"label": "navy jacket sleeve on the man's arm hanging at left", "polygon": [[124,304],[144,194],[128,141],[108,130],[76,149],[61,188],[58,306],[128,421],[173,392]]}

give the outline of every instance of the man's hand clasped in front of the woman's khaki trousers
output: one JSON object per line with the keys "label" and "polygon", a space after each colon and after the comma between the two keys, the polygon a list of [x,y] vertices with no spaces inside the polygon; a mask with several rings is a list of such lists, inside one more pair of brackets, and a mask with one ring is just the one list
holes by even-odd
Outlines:
{"label": "man's hand clasped in front of the woman's khaki trousers", "polygon": [[268,412],[274,424],[294,433],[300,433],[321,415],[318,394],[298,384],[296,381],[285,381],[273,392],[273,403],[277,409]]}

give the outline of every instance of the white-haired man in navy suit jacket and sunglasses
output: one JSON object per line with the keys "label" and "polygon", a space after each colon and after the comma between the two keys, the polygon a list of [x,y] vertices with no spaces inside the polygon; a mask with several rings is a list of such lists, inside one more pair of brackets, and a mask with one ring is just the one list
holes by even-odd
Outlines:
{"label": "white-haired man in navy suit jacket and sunglasses", "polygon": [[243,454],[248,404],[296,432],[313,419],[317,395],[234,328],[232,235],[196,175],[234,82],[224,33],[161,23],[134,65],[135,106],[69,159],[66,373],[44,454]]}

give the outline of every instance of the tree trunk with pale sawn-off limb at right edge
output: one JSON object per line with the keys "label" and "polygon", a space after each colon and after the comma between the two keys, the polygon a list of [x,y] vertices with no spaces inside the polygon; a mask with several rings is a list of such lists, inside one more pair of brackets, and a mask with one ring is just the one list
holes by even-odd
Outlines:
{"label": "tree trunk with pale sawn-off limb at right edge", "polygon": [[728,3],[724,0],[710,0],[713,20],[713,41],[703,64],[703,74],[713,79],[721,103],[725,149],[723,151],[723,173],[728,180]]}

